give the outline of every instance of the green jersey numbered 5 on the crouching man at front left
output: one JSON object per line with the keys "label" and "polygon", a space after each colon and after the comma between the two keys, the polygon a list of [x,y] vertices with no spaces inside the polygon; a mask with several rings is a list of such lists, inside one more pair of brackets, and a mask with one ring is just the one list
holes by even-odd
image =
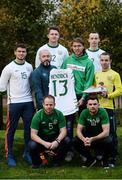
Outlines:
{"label": "green jersey numbered 5 on the crouching man at front left", "polygon": [[38,135],[46,140],[48,137],[59,135],[60,128],[66,127],[63,113],[57,109],[52,114],[46,114],[44,109],[39,110],[33,117],[31,128],[38,130]]}

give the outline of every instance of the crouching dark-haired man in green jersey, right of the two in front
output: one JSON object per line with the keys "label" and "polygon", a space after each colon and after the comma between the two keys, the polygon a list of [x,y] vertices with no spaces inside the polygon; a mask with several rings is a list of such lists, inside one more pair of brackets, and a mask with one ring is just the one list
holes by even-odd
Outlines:
{"label": "crouching dark-haired man in green jersey, right of the two in front", "polygon": [[89,97],[87,109],[80,114],[74,146],[86,158],[83,167],[91,167],[96,163],[91,153],[91,149],[94,149],[95,153],[102,153],[103,167],[109,168],[108,159],[112,151],[109,118],[106,110],[99,108],[97,97]]}

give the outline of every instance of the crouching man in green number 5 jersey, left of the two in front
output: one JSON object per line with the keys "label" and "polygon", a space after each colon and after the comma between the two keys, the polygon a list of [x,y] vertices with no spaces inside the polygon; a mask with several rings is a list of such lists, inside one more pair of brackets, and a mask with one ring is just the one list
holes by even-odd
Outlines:
{"label": "crouching man in green number 5 jersey, left of the two in front", "polygon": [[39,168],[43,164],[44,154],[52,156],[53,166],[58,166],[68,151],[70,140],[66,137],[65,118],[62,112],[54,107],[55,98],[51,95],[45,96],[43,109],[39,110],[32,119],[32,141],[29,143],[29,148],[33,168]]}

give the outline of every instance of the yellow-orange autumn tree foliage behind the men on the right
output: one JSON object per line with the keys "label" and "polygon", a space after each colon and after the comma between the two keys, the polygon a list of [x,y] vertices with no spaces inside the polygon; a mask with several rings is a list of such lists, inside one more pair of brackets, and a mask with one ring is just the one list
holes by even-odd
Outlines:
{"label": "yellow-orange autumn tree foliage behind the men on the right", "polygon": [[122,74],[122,3],[116,0],[63,0],[58,17],[67,46],[80,36],[88,47],[88,34],[97,31],[101,48],[113,54],[113,66]]}

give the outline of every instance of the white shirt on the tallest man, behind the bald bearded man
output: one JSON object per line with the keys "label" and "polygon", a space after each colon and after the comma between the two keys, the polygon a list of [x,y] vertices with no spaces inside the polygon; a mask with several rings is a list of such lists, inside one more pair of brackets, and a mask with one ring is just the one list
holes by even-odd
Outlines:
{"label": "white shirt on the tallest man, behind the bald bearded man", "polygon": [[48,44],[45,44],[42,47],[40,47],[36,53],[36,59],[35,59],[36,68],[40,65],[39,52],[42,49],[47,49],[51,53],[52,55],[51,65],[56,66],[58,69],[61,67],[64,60],[69,56],[67,49],[61,44],[58,44],[56,47],[52,47],[49,46]]}

